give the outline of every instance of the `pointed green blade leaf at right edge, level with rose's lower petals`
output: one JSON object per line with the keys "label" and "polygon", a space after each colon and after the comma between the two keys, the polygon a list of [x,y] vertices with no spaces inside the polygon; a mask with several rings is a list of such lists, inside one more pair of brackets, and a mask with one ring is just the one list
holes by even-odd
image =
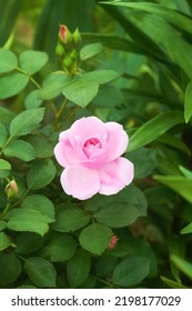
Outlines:
{"label": "pointed green blade leaf at right edge, level with rose's lower petals", "polygon": [[192,203],[192,179],[182,175],[154,175],[154,180],[166,184],[188,202]]}

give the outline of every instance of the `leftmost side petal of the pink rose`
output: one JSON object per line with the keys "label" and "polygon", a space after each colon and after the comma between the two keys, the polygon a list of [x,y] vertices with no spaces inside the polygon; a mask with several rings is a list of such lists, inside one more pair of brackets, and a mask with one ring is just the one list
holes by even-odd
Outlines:
{"label": "leftmost side petal of the pink rose", "polygon": [[60,133],[59,142],[54,147],[55,159],[63,168],[80,162],[77,152],[69,141],[69,131],[70,130]]}

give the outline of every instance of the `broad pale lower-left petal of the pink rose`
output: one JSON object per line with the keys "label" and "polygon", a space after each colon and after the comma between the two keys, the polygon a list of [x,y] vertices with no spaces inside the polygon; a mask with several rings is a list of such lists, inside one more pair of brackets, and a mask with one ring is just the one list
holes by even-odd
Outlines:
{"label": "broad pale lower-left petal of the pink rose", "polygon": [[61,184],[67,194],[87,200],[99,191],[100,178],[95,170],[74,164],[62,172]]}

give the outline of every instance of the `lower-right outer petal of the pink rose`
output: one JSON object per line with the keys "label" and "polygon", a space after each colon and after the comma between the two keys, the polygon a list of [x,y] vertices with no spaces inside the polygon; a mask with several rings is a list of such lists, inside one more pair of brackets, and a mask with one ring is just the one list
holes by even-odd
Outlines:
{"label": "lower-right outer petal of the pink rose", "polygon": [[99,171],[101,188],[99,193],[111,195],[118,193],[133,180],[133,163],[125,158],[119,158],[105,163]]}

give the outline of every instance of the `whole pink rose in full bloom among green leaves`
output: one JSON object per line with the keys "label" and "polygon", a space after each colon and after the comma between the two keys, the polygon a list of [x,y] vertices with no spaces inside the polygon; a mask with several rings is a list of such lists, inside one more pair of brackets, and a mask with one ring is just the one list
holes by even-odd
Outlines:
{"label": "whole pink rose in full bloom among green leaves", "polygon": [[61,167],[61,185],[67,194],[85,200],[101,193],[118,193],[133,180],[133,163],[121,156],[128,134],[117,122],[81,118],[60,133],[54,156]]}

